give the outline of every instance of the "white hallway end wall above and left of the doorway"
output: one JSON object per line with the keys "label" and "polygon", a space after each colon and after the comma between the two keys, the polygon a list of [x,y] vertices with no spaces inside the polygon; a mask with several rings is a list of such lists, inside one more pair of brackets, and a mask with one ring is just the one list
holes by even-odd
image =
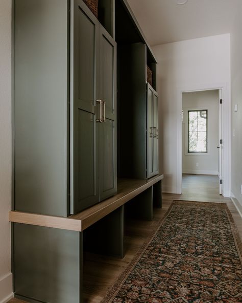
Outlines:
{"label": "white hallway end wall above and left of the doorway", "polygon": [[[229,111],[230,35],[159,45],[153,47],[153,51],[158,60],[159,153],[160,172],[164,174],[163,190],[179,193],[177,150],[181,146],[177,132],[180,123],[177,119],[180,111],[177,106],[178,92],[208,89],[211,86],[215,89],[224,85],[226,112]],[[228,138],[226,140],[229,141]],[[228,148],[225,155],[230,156]]]}

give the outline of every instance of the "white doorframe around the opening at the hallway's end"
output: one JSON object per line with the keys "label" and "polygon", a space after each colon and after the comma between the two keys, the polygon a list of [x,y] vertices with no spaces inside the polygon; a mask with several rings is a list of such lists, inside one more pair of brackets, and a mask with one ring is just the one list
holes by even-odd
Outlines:
{"label": "white doorframe around the opening at the hallway's end", "polygon": [[223,196],[230,197],[231,189],[231,102],[229,83],[191,84],[177,88],[177,192],[182,193],[182,93],[222,90],[222,138],[223,138]]}

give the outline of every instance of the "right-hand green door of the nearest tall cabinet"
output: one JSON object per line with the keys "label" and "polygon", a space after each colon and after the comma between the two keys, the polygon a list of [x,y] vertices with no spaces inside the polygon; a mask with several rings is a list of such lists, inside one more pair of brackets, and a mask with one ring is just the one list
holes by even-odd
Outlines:
{"label": "right-hand green door of the nearest tall cabinet", "polygon": [[100,201],[116,193],[116,42],[100,25],[99,99],[103,122],[99,123]]}

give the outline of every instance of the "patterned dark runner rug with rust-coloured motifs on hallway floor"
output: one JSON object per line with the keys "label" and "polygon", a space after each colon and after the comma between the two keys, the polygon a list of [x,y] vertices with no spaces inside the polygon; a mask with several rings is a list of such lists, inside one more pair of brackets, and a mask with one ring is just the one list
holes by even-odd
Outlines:
{"label": "patterned dark runner rug with rust-coloured motifs on hallway floor", "polygon": [[101,302],[241,303],[241,252],[226,204],[173,201]]}

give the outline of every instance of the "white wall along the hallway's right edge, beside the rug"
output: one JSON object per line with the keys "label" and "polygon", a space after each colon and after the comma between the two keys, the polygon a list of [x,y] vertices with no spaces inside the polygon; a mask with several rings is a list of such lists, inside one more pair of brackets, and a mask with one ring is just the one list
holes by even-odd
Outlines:
{"label": "white wall along the hallway's right edge, beside the rug", "polygon": [[[242,1],[238,0],[237,5],[231,32],[231,191],[242,207]],[[237,112],[234,112],[235,104]]]}

